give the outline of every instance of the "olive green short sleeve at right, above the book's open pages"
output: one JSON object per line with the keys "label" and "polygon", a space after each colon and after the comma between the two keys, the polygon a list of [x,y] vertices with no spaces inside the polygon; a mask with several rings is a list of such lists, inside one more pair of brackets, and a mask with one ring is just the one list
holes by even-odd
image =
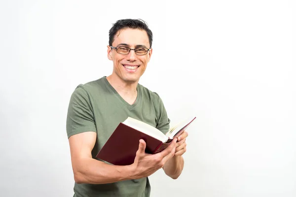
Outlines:
{"label": "olive green short sleeve at right, above the book's open pages", "polygon": [[158,118],[156,122],[156,128],[163,132],[164,134],[167,133],[170,129],[170,119],[168,118],[166,109],[164,107],[162,99],[159,97],[157,93],[155,93],[157,97],[159,98],[159,112],[158,112]]}

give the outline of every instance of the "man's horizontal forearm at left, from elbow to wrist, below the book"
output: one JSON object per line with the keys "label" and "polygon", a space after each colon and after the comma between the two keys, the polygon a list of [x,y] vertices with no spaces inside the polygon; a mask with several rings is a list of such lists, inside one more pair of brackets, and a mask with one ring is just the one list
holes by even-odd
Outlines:
{"label": "man's horizontal forearm at left, from elbow to wrist, below the book", "polygon": [[76,183],[106,184],[133,179],[130,165],[120,166],[84,158],[73,167]]}

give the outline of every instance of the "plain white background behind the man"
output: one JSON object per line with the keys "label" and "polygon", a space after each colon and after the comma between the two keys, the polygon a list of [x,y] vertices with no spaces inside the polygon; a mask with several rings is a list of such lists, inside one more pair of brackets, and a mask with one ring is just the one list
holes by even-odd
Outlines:
{"label": "plain white background behind the man", "polygon": [[172,124],[195,115],[185,168],[159,170],[151,196],[296,196],[293,0],[2,0],[0,193],[71,197],[70,96],[108,76],[108,31],[144,19],[153,54],[140,83]]}

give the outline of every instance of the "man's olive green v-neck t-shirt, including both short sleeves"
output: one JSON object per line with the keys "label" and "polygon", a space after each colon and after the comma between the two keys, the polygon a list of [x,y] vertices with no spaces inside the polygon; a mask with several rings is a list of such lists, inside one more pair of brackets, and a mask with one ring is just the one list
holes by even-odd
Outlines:
{"label": "man's olive green v-neck t-shirt, including both short sleeves", "polygon": [[[68,137],[86,131],[97,133],[92,157],[101,150],[120,122],[132,117],[156,127],[169,130],[170,119],[160,97],[144,86],[137,85],[137,99],[127,103],[104,76],[80,84],[71,96],[67,115]],[[148,177],[110,184],[74,184],[74,197],[149,197]]]}

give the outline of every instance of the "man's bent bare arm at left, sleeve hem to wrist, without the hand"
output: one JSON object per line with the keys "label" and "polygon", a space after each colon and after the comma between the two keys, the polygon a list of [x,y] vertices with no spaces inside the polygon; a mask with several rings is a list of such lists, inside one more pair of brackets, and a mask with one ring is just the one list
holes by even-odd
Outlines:
{"label": "man's bent bare arm at left, sleeve hem to wrist, without the hand", "polygon": [[132,179],[130,166],[105,164],[92,159],[96,132],[82,132],[69,138],[71,161],[76,183],[103,184]]}

